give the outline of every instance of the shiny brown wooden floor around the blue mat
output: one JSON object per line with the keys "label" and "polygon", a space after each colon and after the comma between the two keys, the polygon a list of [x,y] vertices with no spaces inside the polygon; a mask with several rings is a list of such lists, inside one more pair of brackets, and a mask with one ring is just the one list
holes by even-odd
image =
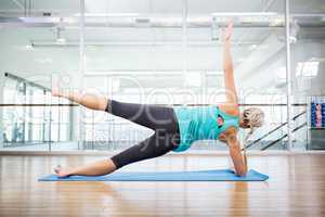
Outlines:
{"label": "shiny brown wooden floor around the blue mat", "polygon": [[[38,182],[100,156],[0,156],[0,216],[325,216],[325,154],[251,156],[266,182]],[[223,156],[166,156],[123,170],[226,168]]]}

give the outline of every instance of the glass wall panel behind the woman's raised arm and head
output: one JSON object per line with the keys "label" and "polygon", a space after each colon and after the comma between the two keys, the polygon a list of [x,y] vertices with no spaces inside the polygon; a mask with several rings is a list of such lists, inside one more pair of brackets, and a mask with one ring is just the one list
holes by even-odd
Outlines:
{"label": "glass wall panel behind the woman's raised arm and head", "polygon": [[[203,75],[198,89],[205,95],[203,102],[207,104],[225,101],[222,28],[231,18],[234,22],[231,52],[236,89],[239,103],[248,104],[240,106],[240,112],[253,106],[261,108],[265,116],[264,125],[255,130],[247,144],[286,122],[284,5],[284,1],[280,0],[188,1],[188,67],[198,69]],[[199,80],[192,75],[190,79]],[[190,84],[187,89],[194,90],[195,85]],[[265,106],[268,104],[274,105]],[[246,130],[239,130],[242,144],[246,133]],[[263,149],[284,133],[285,127],[264,137],[250,149]],[[196,148],[200,150],[226,149],[221,142],[197,143]],[[277,142],[270,149],[286,150],[286,144]]]}

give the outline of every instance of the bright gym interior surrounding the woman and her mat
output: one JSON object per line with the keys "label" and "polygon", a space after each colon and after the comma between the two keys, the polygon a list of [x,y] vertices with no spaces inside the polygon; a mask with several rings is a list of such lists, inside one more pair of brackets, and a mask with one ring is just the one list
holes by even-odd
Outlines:
{"label": "bright gym interior surrounding the woman and her mat", "polygon": [[[238,107],[264,113],[237,138],[266,180],[40,180],[153,133],[53,97],[53,85],[158,106],[222,103],[229,22]],[[1,0],[0,46],[0,216],[325,216],[324,0]],[[232,164],[225,143],[200,140],[118,173]]]}

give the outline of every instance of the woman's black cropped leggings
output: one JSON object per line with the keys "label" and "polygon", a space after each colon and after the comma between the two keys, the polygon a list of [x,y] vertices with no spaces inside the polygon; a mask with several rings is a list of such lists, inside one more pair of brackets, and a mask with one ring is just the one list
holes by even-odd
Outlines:
{"label": "woman's black cropped leggings", "polygon": [[106,112],[151,128],[153,136],[112,157],[116,168],[161,156],[180,143],[179,125],[172,107],[122,103],[108,100]]}

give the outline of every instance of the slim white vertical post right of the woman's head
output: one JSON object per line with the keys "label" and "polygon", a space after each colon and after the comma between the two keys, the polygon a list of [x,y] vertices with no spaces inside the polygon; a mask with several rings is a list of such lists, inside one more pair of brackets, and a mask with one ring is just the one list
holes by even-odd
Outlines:
{"label": "slim white vertical post right of the woman's head", "polygon": [[286,20],[286,74],[287,74],[287,133],[288,133],[288,150],[292,148],[292,124],[291,124],[291,52],[290,52],[290,13],[289,0],[285,1],[285,20]]}

